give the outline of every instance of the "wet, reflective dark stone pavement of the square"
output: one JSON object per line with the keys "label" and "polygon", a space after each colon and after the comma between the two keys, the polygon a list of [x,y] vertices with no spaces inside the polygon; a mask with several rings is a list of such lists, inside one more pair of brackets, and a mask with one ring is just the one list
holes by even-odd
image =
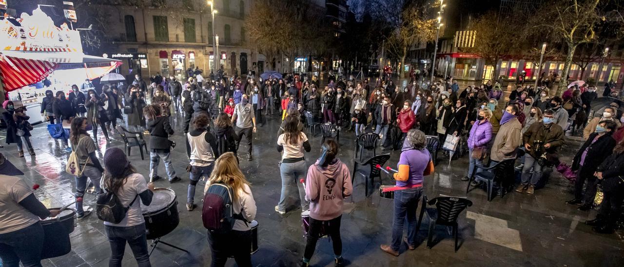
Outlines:
{"label": "wet, reflective dark stone pavement of the square", "polygon": [[[166,180],[156,183],[157,187],[174,190],[178,198],[180,225],[163,241],[190,251],[189,254],[158,245],[150,261],[153,266],[208,266],[210,248],[206,230],[201,221],[201,206],[186,211],[185,198],[188,173],[184,171],[188,158],[184,150],[182,120],[174,118],[174,129],[178,129],[173,140],[178,147],[172,151],[173,165],[182,177],[182,182],[169,184]],[[295,266],[305,248],[301,229],[300,208],[296,190],[291,190],[288,213],[279,215],[273,210],[280,198],[281,180],[278,168],[280,153],[275,149],[276,130],[279,119],[268,119],[264,127],[253,135],[254,160],[243,157],[241,170],[251,182],[251,190],[258,205],[256,220],[259,223],[258,239],[260,250],[252,256],[254,266]],[[18,168],[21,168],[29,183],[38,183],[41,188],[36,195],[46,206],[59,207],[73,200],[74,177],[64,172],[69,153],[61,150],[61,142],[47,134],[46,125],[35,125],[32,144],[37,155],[17,158],[15,145],[0,148]],[[4,137],[4,133],[0,132]],[[340,139],[339,158],[353,168],[354,134],[343,132]],[[124,147],[117,134],[111,135],[107,143],[98,135],[98,157],[107,147]],[[306,153],[308,165],[319,155],[320,135],[310,137],[312,151]],[[4,143],[4,140],[0,140]],[[578,138],[568,138],[563,150],[564,161],[570,161],[580,145]],[[246,151],[241,144],[241,152]],[[384,153],[378,150],[378,153]],[[399,152],[391,153],[390,165],[396,165]],[[149,157],[141,160],[137,149],[132,151],[130,161],[145,177],[149,173]],[[350,266],[623,266],[624,242],[622,232],[613,235],[598,235],[583,221],[593,218],[595,211],[578,211],[576,206],[566,205],[572,197],[572,183],[553,173],[545,188],[534,195],[509,193],[505,197],[486,200],[484,190],[475,189],[466,194],[466,182],[460,180],[466,175],[467,156],[454,160],[440,160],[436,172],[426,177],[425,193],[429,198],[439,195],[467,197],[474,205],[467,208],[459,219],[461,248],[454,252],[454,240],[442,226],[437,226],[433,248],[426,248],[428,220],[418,232],[417,248],[409,251],[405,245],[401,255],[394,257],[379,250],[379,245],[389,243],[392,228],[392,200],[380,198],[376,191],[364,196],[363,175],[356,175],[353,197],[346,200],[342,218],[343,257]],[[164,174],[163,164],[159,172]],[[383,183],[392,181],[382,176]],[[204,182],[200,182],[196,199],[202,198]],[[85,196],[85,205],[95,206],[95,196]],[[110,256],[109,244],[102,221],[91,215],[76,222],[71,233],[71,253],[42,261],[44,266],[107,266]],[[333,266],[333,251],[328,239],[318,242],[311,260],[313,266]],[[136,266],[129,247],[125,251],[123,266]],[[227,266],[235,266],[233,260]]]}

